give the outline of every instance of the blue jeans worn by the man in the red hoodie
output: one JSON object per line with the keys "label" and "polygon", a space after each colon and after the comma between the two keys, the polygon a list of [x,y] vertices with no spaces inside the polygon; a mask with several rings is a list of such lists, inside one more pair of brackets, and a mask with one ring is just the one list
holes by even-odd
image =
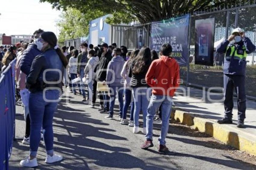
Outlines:
{"label": "blue jeans worn by the man in the red hoodie", "polygon": [[149,105],[148,105],[148,114],[147,114],[147,134],[146,139],[152,140],[153,136],[153,118],[157,109],[162,105],[162,127],[161,135],[158,138],[159,144],[165,145],[165,138],[169,128],[169,119],[172,110],[172,97],[170,96],[161,96],[152,94]]}

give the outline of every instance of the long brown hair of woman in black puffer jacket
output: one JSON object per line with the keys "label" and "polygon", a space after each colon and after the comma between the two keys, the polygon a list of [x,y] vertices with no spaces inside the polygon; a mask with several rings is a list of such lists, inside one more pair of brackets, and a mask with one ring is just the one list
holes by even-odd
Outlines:
{"label": "long brown hair of woman in black puffer jacket", "polygon": [[148,47],[142,47],[134,60],[133,74],[140,74],[148,70],[151,64],[151,51]]}

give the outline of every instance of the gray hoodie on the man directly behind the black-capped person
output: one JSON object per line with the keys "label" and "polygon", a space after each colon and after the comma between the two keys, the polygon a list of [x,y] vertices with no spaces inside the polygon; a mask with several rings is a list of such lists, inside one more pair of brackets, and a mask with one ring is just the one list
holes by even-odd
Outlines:
{"label": "gray hoodie on the man directly behind the black-capped person", "polygon": [[[123,86],[124,80],[121,76],[125,61],[121,56],[114,56],[108,63],[106,82],[109,86]],[[112,71],[111,71],[112,70]]]}

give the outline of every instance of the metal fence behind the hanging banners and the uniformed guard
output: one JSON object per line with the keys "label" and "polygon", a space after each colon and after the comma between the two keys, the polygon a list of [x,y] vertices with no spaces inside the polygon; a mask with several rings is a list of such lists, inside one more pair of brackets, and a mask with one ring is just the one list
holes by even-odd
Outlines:
{"label": "metal fence behind the hanging banners and the uniformed guard", "polygon": [[[195,47],[195,20],[215,18],[214,42],[227,38],[233,29],[240,27],[245,30],[245,35],[256,44],[256,4],[229,4],[229,6],[207,9],[190,15],[189,25],[189,65],[180,67],[180,76],[187,85],[196,87],[223,87],[223,61],[224,55],[214,52],[214,66],[194,64]],[[150,47],[151,24],[137,25],[123,29],[123,45],[128,49]],[[119,37],[112,38],[112,42]],[[247,56],[246,93],[252,98],[256,97],[256,53]],[[256,99],[256,98],[255,98]]]}

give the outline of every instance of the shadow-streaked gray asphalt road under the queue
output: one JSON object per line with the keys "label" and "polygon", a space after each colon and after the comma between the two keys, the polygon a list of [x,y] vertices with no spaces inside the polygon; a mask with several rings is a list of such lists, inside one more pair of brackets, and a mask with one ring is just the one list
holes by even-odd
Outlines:
{"label": "shadow-streaked gray asphalt road under the queue", "polygon": [[[66,99],[70,99],[69,103]],[[155,147],[142,150],[144,135],[133,134],[132,127],[120,125],[117,115],[115,120],[105,119],[106,114],[83,105],[81,99],[72,94],[63,96],[55,113],[54,147],[63,161],[45,164],[42,141],[37,155],[39,166],[35,169],[256,169],[256,162],[240,159],[244,153],[176,123],[170,124],[166,139],[170,153],[158,153],[160,122],[154,124]],[[22,107],[17,106],[16,112],[22,113]],[[17,138],[25,133],[23,119],[17,114]],[[10,169],[30,169],[19,165],[28,154],[28,145],[19,139],[14,141]]]}

